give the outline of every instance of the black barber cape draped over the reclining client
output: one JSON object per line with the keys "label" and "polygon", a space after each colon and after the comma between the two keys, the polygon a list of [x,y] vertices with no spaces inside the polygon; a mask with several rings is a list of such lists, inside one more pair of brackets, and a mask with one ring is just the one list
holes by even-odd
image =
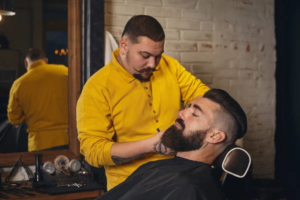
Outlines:
{"label": "black barber cape draped over the reclining client", "polygon": [[96,199],[223,199],[211,173],[209,164],[178,156],[150,161]]}

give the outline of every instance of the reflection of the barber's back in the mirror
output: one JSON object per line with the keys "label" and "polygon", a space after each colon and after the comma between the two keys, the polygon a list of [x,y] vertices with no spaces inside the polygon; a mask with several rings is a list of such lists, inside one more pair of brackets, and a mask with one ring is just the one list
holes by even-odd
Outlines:
{"label": "reflection of the barber's back in the mirror", "polygon": [[45,53],[30,48],[27,72],[10,89],[8,120],[18,125],[25,120],[28,151],[68,148],[68,69],[62,64],[48,64]]}

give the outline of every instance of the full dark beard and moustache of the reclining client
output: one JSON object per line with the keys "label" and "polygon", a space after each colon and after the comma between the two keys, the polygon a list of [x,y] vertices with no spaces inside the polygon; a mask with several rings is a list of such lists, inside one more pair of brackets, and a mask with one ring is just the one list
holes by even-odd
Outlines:
{"label": "full dark beard and moustache of the reclining client", "polygon": [[176,121],[182,128],[178,129],[175,124],[171,125],[161,136],[161,143],[170,149],[181,152],[199,149],[203,145],[208,129],[183,133],[185,126],[182,119],[178,118]]}

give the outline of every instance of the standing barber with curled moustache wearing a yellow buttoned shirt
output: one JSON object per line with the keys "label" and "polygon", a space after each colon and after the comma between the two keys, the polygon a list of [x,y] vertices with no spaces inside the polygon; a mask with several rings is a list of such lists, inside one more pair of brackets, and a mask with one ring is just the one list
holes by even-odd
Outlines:
{"label": "standing barber with curled moustache wearing a yellow buttoned shirt", "polygon": [[173,157],[160,142],[180,110],[209,88],[163,54],[164,31],[147,15],[126,23],[112,60],[85,83],[76,107],[80,152],[104,165],[107,189],[139,165]]}

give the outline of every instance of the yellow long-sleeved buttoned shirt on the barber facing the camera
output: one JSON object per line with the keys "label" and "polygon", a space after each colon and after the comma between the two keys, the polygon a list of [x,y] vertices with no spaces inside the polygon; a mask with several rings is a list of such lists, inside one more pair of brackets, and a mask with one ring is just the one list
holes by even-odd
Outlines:
{"label": "yellow long-sleeved buttoned shirt on the barber facing the camera", "polygon": [[95,167],[104,165],[107,189],[119,184],[141,164],[170,158],[147,153],[125,164],[111,159],[113,142],[151,137],[168,128],[177,118],[180,100],[184,104],[209,88],[175,59],[162,55],[150,81],[139,81],[116,60],[94,73],[85,83],[76,107],[80,152]]}

